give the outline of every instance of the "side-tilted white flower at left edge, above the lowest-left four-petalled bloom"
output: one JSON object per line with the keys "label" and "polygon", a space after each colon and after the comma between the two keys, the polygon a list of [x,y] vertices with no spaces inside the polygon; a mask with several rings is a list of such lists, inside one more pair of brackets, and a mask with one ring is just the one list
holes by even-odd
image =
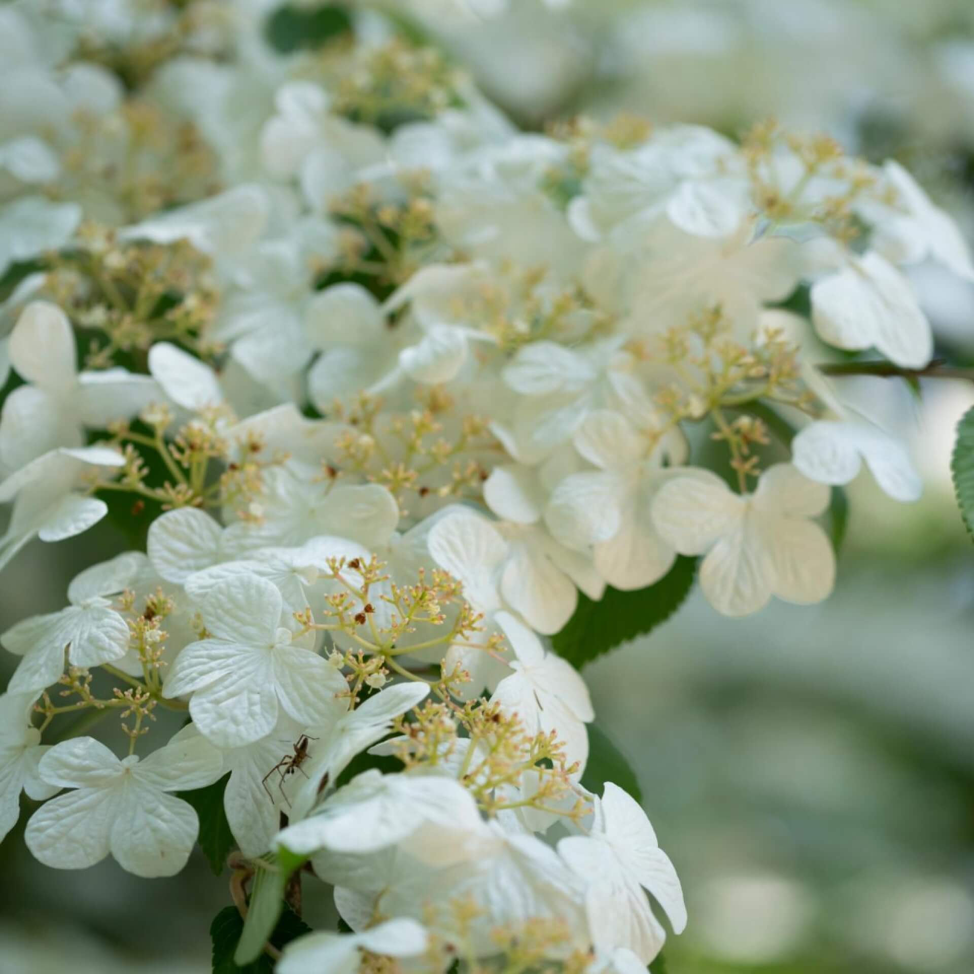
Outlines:
{"label": "side-tilted white flower at left edge, above the lowest-left four-petalled bloom", "polygon": [[9,689],[19,693],[51,686],[64,670],[65,651],[70,665],[86,668],[125,656],[129,624],[106,596],[126,588],[137,570],[137,561],[127,554],[94,565],[68,585],[71,604],[66,609],[25,618],[0,636],[5,649],[23,656]]}

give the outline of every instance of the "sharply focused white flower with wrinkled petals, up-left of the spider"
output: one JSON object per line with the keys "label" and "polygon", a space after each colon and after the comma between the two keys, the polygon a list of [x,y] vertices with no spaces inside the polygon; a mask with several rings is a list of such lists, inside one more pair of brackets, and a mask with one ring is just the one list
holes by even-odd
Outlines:
{"label": "sharply focused white flower with wrinkled petals, up-left of the spider", "polygon": [[256,576],[221,582],[206,597],[212,635],[176,657],[166,696],[192,693],[190,714],[219,747],[239,747],[274,730],[281,709],[305,726],[329,724],[346,709],[344,678],[283,627],[281,592]]}

